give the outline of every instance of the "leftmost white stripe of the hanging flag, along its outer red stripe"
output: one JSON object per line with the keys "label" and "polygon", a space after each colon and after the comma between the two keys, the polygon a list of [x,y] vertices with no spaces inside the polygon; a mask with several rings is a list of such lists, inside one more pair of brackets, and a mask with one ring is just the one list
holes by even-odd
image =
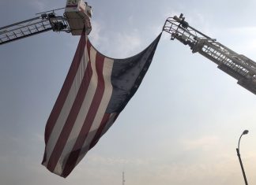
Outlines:
{"label": "leftmost white stripe of the hanging flag, along its outer red stripe", "polygon": [[[61,112],[59,113],[58,119],[56,120],[55,127],[51,131],[51,135],[47,142],[46,146],[46,154],[47,159],[43,165],[47,166],[49,158],[51,157],[52,151],[55,148],[56,142],[58,141],[58,137],[61,134],[62,128],[66,123],[66,118],[69,116],[70,109],[73,105],[75,98],[77,97],[77,92],[81,85],[81,81],[83,80],[83,74],[85,74],[85,69],[88,65],[88,54],[87,54],[87,46],[85,45],[84,54],[81,57],[80,65],[77,69],[77,74],[73,80],[72,86],[70,87],[69,94],[66,97],[66,102],[64,103]],[[68,91],[68,90],[66,90]]]}

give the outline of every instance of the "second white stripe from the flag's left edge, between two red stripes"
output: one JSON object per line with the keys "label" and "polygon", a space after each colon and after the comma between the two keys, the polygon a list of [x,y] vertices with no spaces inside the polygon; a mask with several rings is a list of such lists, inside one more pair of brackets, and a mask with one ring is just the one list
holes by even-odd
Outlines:
{"label": "second white stripe from the flag's left edge, between two red stripes", "polygon": [[79,113],[77,114],[75,123],[73,124],[73,128],[72,128],[72,131],[70,132],[69,139],[67,140],[66,145],[62,151],[62,154],[58,159],[58,163],[55,166],[55,172],[62,173],[62,170],[65,166],[65,165],[63,165],[64,161],[66,164],[67,157],[69,157],[69,154],[70,154],[71,150],[73,149],[75,142],[77,141],[77,137],[78,137],[78,135],[81,131],[81,128],[84,124],[85,117],[88,114],[88,110],[90,108],[92,99],[96,92],[96,87],[97,87],[97,83],[98,83],[98,76],[97,76],[97,72],[96,72],[96,50],[94,50],[92,47],[90,50],[90,56],[91,56],[90,59],[91,59],[91,66],[92,66],[92,79],[89,83],[88,91],[85,94],[85,98],[81,105],[81,109],[79,110]]}

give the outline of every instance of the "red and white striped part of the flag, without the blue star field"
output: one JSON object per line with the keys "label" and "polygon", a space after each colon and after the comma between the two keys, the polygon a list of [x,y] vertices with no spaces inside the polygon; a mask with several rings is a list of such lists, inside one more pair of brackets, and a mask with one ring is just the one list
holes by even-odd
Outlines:
{"label": "red and white striped part of the flag, without the blue star field", "polygon": [[113,63],[113,59],[98,53],[85,35],[81,36],[47,121],[42,164],[51,172],[68,176],[118,116],[105,113],[113,90]]}

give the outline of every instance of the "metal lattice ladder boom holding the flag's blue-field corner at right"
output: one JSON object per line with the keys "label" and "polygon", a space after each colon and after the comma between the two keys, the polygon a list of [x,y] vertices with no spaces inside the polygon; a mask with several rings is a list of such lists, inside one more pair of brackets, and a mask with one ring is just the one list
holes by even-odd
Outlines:
{"label": "metal lattice ladder boom holding the flag's blue-field corner at right", "polygon": [[179,17],[169,17],[164,24],[163,31],[171,34],[171,40],[178,39],[190,46],[192,53],[207,57],[218,65],[222,71],[238,80],[238,84],[256,94],[256,63],[250,58],[237,54],[227,46],[216,42],[209,36],[191,27],[183,14]]}

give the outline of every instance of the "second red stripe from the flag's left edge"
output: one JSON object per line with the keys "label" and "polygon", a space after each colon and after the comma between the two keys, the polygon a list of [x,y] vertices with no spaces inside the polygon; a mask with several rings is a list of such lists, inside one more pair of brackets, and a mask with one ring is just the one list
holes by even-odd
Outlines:
{"label": "second red stripe from the flag's left edge", "polygon": [[62,128],[62,132],[58,137],[58,141],[56,142],[55,148],[52,151],[51,157],[48,161],[47,168],[51,172],[53,172],[55,170],[55,166],[57,165],[58,159],[62,154],[62,150],[64,149],[66,142],[69,139],[70,132],[72,131],[72,128],[73,128],[73,124],[75,123],[75,120],[77,119],[77,114],[79,113],[79,110],[81,109],[83,100],[85,99],[85,94],[88,90],[88,86],[89,86],[91,78],[92,78],[91,61],[88,61],[88,65],[85,70],[85,75],[81,82],[81,86],[79,87],[79,90],[77,92],[77,97],[75,98],[75,101],[73,102],[69,116],[66,119],[66,123],[64,124],[64,127]]}

